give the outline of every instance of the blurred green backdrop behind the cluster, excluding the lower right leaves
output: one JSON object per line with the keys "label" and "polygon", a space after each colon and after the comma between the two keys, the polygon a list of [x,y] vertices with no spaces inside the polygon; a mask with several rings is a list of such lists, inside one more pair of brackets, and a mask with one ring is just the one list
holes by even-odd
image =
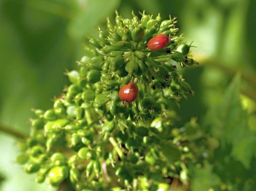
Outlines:
{"label": "blurred green backdrop behind the cluster, excluding the lower right leaves", "polygon": [[[204,121],[239,72],[241,104],[255,132],[255,7],[254,0],[0,0],[0,125],[29,134],[31,108],[50,108],[68,85],[64,71],[76,68],[85,36],[96,37],[115,10],[123,17],[146,10],[178,17],[179,34],[197,47],[191,49],[200,65],[181,71],[196,93],[177,108],[178,124]],[[0,133],[0,190],[55,190],[36,184],[15,163],[16,143]]]}

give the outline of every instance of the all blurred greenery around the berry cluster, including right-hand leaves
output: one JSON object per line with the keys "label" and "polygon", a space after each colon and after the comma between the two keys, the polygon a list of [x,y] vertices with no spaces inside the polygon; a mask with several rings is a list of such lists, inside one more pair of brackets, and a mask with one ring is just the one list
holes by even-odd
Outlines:
{"label": "all blurred greenery around the berry cluster, including right-hand leaves", "polygon": [[[28,134],[30,108],[46,110],[52,106],[49,98],[59,95],[68,83],[62,75],[64,69],[76,69],[74,60],[84,55],[81,42],[87,44],[88,40],[83,35],[96,38],[96,26],[105,29],[106,17],[113,21],[115,9],[123,17],[130,17],[131,10],[138,13],[144,9],[154,15],[161,13],[163,19],[171,14],[178,17],[176,25],[185,39],[194,41],[197,48],[193,48],[193,58],[200,62],[189,70],[179,68],[195,95],[181,99],[181,107],[175,108],[175,130],[180,129],[182,137],[186,136],[182,127],[190,125],[197,132],[183,144],[200,163],[191,160],[180,179],[191,183],[192,190],[255,190],[255,150],[249,146],[255,141],[256,129],[255,1],[106,2],[97,0],[98,6],[93,6],[83,0],[0,1],[0,124]],[[224,96],[229,101],[234,98],[228,106],[223,92],[237,70],[241,79],[237,77],[233,90]],[[226,125],[230,125],[229,130]],[[33,184],[33,176],[21,172],[21,167],[13,163],[18,152],[13,146],[15,140],[0,136],[3,190],[49,189]],[[189,179],[182,179],[182,175]],[[175,181],[171,187],[175,187]]]}

